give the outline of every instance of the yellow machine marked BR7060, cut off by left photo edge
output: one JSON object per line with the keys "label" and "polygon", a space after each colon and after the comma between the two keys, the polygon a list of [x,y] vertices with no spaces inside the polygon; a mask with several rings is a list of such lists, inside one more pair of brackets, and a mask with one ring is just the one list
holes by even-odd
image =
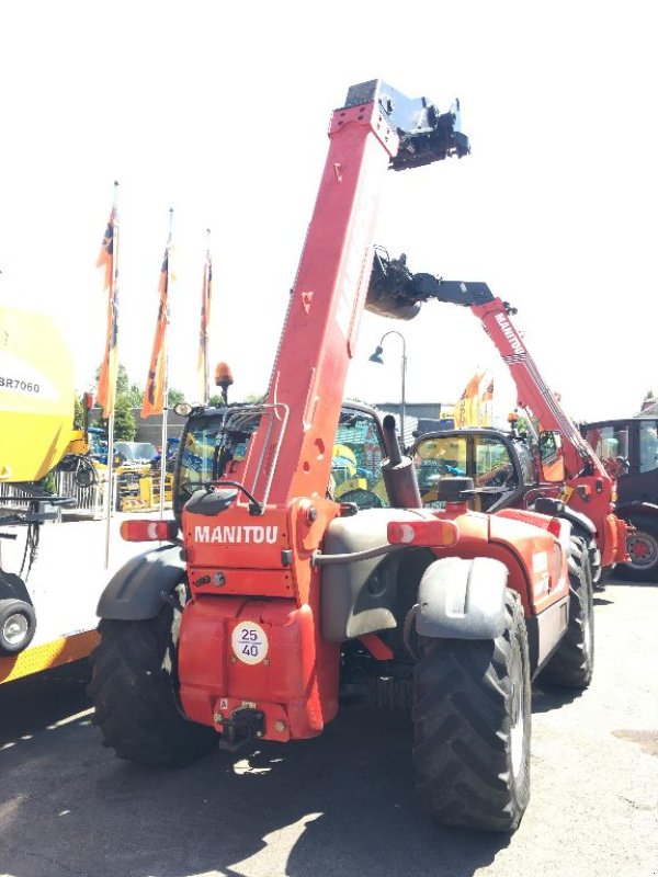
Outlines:
{"label": "yellow machine marked BR7060, cut off by left photo edge", "polygon": [[54,322],[0,305],[0,539],[15,540],[16,526],[27,534],[19,573],[0,565],[0,682],[80,657],[66,637],[27,649],[36,616],[22,578],[25,560],[29,572],[36,551],[39,525],[57,516],[57,504],[69,502],[34,482],[67,454],[88,449],[86,432],[72,429],[73,412],[72,361]]}

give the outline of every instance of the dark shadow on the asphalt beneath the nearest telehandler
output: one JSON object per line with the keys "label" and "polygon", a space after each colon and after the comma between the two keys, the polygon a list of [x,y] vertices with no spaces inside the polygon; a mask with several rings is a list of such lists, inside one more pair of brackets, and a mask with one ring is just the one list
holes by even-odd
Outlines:
{"label": "dark shadow on the asphalt beneath the nearest telehandler", "polygon": [[12,877],[467,877],[509,844],[418,809],[400,714],[348,707],[316,740],[217,750],[182,771],[121,762],[89,718],[50,718],[0,752]]}

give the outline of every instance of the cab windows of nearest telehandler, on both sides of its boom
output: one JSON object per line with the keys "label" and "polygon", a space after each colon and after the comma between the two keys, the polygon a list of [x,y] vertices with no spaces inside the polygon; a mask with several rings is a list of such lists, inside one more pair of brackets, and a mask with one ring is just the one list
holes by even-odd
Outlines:
{"label": "cab windows of nearest telehandler, on both sides of its boom", "polygon": [[[262,408],[230,405],[191,411],[181,436],[173,480],[173,512],[181,521],[192,494],[220,478],[231,479],[247,456]],[[331,457],[327,496],[359,509],[390,505],[381,463],[386,457],[377,413],[355,402],[343,405]]]}

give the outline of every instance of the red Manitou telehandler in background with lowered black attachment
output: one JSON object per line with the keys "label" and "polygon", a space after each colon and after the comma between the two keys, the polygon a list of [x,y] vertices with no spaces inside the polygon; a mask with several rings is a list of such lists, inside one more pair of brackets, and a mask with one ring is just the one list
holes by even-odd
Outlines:
{"label": "red Manitou telehandler in background with lowered black attachment", "polygon": [[625,515],[614,513],[616,479],[544,381],[512,322],[515,308],[486,283],[413,274],[404,254],[389,259],[383,251],[374,260],[371,297],[379,314],[404,319],[429,299],[469,307],[508,366],[529,425],[533,419],[538,423],[534,435],[520,435],[514,428],[510,433],[481,428],[424,433],[413,448],[418,465],[426,471],[430,465],[439,468],[423,501],[434,499],[432,490],[451,471],[451,460],[460,460],[456,468],[474,479],[472,504],[478,511],[530,509],[569,521],[574,537],[587,546],[594,586],[602,586],[602,570],[627,558]]}

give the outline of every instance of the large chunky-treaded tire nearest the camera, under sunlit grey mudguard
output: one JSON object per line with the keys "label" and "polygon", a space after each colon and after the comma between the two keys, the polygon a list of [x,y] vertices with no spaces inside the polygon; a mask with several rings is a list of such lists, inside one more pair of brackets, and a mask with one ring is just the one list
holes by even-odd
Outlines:
{"label": "large chunky-treaded tire nearest the camera, under sunlit grey mudguard", "polygon": [[495,640],[424,640],[415,669],[413,763],[434,821],[512,832],[530,799],[531,687],[525,619],[506,597]]}

